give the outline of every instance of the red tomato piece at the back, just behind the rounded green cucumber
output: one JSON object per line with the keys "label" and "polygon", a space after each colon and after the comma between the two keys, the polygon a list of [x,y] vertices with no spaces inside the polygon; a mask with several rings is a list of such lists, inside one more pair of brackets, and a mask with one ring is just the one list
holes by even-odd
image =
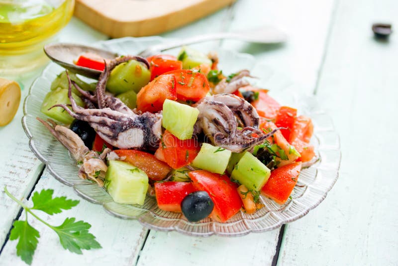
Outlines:
{"label": "red tomato piece at the back, just behind the rounded green cucumber", "polygon": [[173,55],[159,54],[148,57],[147,60],[151,65],[151,81],[166,72],[183,69],[183,62]]}

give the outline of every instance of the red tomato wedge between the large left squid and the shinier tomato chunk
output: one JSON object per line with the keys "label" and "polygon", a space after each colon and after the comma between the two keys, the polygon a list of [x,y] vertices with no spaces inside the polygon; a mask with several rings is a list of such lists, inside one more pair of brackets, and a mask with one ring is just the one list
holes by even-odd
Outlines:
{"label": "red tomato wedge between the large left squid and the shinier tomato chunk", "polygon": [[166,99],[177,100],[176,77],[161,75],[148,83],[137,94],[137,110],[155,113],[163,109]]}

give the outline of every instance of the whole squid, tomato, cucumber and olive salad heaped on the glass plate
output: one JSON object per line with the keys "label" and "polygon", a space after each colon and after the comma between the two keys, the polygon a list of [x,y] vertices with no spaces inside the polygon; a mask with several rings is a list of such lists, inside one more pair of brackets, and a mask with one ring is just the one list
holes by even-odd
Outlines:
{"label": "whole squid, tomato, cucumber and olive salad heaped on the glass plate", "polygon": [[286,203],[314,161],[311,119],[252,86],[250,71],[224,73],[215,53],[75,64],[100,70],[98,81],[60,73],[41,106],[48,119],[37,119],[114,202],[155,197],[190,222],[226,222],[263,208],[261,195]]}

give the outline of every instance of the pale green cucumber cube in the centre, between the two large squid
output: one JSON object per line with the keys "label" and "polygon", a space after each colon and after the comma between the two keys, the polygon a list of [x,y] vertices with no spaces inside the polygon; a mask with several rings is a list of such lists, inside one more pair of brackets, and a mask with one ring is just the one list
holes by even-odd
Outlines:
{"label": "pale green cucumber cube in the centre, between the two large squid", "polygon": [[198,109],[166,99],[163,103],[162,126],[179,139],[190,139],[198,115]]}

